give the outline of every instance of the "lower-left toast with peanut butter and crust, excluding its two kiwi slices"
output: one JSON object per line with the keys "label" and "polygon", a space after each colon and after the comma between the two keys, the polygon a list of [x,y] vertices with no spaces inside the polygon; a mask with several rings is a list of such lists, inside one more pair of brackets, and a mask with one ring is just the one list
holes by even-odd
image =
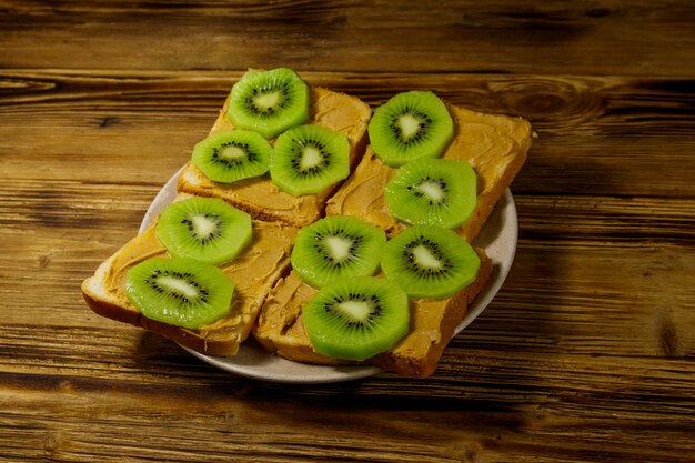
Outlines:
{"label": "lower-left toast with peanut butter and crust, excluding its two kiwi slices", "polygon": [[[179,194],[177,201],[188,198]],[[169,256],[157,239],[157,222],[104,261],[82,283],[89,306],[98,314],[142,326],[182,345],[210,355],[233,355],[255,323],[256,315],[278,279],[286,273],[296,229],[276,222],[253,221],[251,244],[233,261],[220,265],[235,283],[228,315],[195,330],[148,319],[124,294],[125,273],[149,258]]]}

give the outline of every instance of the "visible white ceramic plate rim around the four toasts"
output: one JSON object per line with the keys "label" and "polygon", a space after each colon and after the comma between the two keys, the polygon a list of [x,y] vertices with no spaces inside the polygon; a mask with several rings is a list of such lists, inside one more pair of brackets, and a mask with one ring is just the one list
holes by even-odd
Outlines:
{"label": "visible white ceramic plate rim around the four toasts", "polygon": [[[164,188],[152,201],[152,204],[150,204],[140,225],[140,233],[177,197],[177,179],[180,172],[177,172],[169,179]],[[502,288],[502,283],[504,283],[512,268],[514,253],[516,252],[517,233],[516,205],[514,204],[512,193],[510,190],[506,190],[504,198],[502,198],[473,243],[479,248],[484,248],[487,255],[492,259],[492,276],[466,312],[462,322],[456,326],[454,335],[471,324]],[[334,383],[371,376],[381,371],[375,366],[323,366],[291,362],[281,356],[269,354],[255,344],[242,344],[236,355],[228,358],[211,356],[188,348],[183,349],[224,371],[256,380],[281,383]]]}

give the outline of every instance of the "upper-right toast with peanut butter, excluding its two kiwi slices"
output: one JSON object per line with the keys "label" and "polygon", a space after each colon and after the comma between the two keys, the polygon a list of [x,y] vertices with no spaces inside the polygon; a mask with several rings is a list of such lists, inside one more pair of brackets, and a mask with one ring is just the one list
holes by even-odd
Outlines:
{"label": "upper-right toast with peanut butter, excluding its two kiwi slices", "polygon": [[[443,159],[465,160],[477,174],[477,205],[456,232],[471,241],[524,163],[531,125],[522,119],[482,114],[450,107],[455,133]],[[522,155],[520,155],[522,154]],[[367,148],[362,162],[328,201],[326,213],[355,215],[394,235],[405,228],[395,220],[384,199],[384,188],[395,174]]]}

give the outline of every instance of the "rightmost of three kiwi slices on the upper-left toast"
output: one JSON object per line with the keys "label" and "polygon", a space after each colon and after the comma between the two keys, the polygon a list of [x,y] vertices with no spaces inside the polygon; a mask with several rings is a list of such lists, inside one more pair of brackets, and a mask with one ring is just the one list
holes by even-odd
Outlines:
{"label": "rightmost of three kiwi slices on the upper-left toast", "polygon": [[275,141],[270,177],[294,197],[318,193],[350,175],[350,142],[321,125],[289,129]]}

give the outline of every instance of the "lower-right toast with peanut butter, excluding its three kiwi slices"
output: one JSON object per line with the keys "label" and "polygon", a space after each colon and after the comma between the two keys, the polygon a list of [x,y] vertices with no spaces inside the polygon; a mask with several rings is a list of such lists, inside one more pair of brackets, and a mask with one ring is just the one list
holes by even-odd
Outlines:
{"label": "lower-right toast with peanut butter, excluding its three kiwi slices", "polygon": [[[475,250],[481,268],[473,283],[444,300],[412,299],[409,333],[391,350],[362,364],[380,366],[403,376],[424,378],[434,372],[444,348],[461,322],[467,306],[492,274],[492,261],[482,249]],[[302,308],[318,293],[296,273],[281,279],[263,304],[254,338],[269,352],[285,359],[319,364],[350,365],[357,362],[331,359],[316,353],[302,322]]]}

